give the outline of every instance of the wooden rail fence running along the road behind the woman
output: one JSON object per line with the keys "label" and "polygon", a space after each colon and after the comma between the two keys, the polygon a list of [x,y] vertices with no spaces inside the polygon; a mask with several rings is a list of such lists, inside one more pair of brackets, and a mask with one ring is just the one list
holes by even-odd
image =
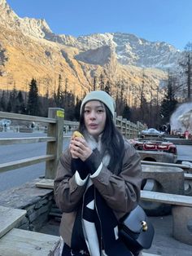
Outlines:
{"label": "wooden rail fence running along the road behind the woman", "polygon": [[[45,124],[47,136],[42,137],[28,137],[28,138],[8,138],[0,139],[1,145],[11,145],[19,143],[41,143],[46,142],[46,155],[38,157],[30,157],[18,161],[11,161],[0,164],[0,172],[15,170],[25,166],[35,165],[42,161],[46,161],[45,177],[46,179],[54,179],[56,166],[58,165],[59,157],[63,150],[63,127],[71,127],[75,130],[78,126],[76,121],[63,120],[64,110],[62,108],[49,108],[48,117],[34,117],[28,115],[21,115],[15,113],[0,112],[0,118],[11,119],[14,121],[35,121]],[[142,123],[137,122],[134,124],[122,117],[114,118],[117,128],[121,131],[122,135],[127,139],[137,137],[139,131],[144,129]],[[19,131],[20,129],[15,129]]]}

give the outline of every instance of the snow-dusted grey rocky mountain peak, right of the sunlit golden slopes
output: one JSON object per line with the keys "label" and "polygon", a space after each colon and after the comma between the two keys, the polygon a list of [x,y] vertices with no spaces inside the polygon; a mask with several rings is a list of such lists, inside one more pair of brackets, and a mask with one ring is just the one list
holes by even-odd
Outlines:
{"label": "snow-dusted grey rocky mountain peak, right of the sunlit golden slopes", "polygon": [[[71,45],[82,51],[112,46],[120,64],[142,68],[170,68],[181,55],[180,51],[166,42],[149,42],[129,33],[92,34],[76,38],[74,42]],[[65,41],[63,43],[68,44]]]}

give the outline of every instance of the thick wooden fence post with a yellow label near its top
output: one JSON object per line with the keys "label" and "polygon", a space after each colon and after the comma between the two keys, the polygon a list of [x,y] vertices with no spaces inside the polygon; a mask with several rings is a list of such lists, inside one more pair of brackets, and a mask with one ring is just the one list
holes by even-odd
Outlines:
{"label": "thick wooden fence post with a yellow label near its top", "polygon": [[56,124],[49,124],[47,136],[55,137],[55,142],[48,142],[46,154],[55,154],[55,159],[46,161],[46,179],[55,179],[55,174],[59,162],[59,157],[63,151],[63,119],[64,110],[62,108],[49,108],[48,117],[55,118]]}

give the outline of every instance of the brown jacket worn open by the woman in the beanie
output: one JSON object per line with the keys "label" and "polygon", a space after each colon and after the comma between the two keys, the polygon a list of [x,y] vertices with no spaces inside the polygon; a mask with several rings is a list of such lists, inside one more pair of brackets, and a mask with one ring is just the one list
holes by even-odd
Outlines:
{"label": "brown jacket worn open by the woman in the beanie", "polygon": [[[136,150],[125,141],[125,152],[120,174],[112,174],[106,166],[97,177],[92,179],[95,188],[111,207],[117,219],[133,210],[140,200],[142,167]],[[72,228],[76,210],[85,192],[86,183],[79,186],[71,170],[71,154],[67,149],[60,158],[55,178],[55,201],[63,216],[60,224],[60,235],[65,243],[71,246]]]}

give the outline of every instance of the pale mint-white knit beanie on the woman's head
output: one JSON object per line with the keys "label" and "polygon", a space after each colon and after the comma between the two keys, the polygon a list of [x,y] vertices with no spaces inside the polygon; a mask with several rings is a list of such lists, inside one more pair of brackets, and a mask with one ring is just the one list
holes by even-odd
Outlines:
{"label": "pale mint-white knit beanie on the woman's head", "polygon": [[109,108],[112,116],[114,117],[116,103],[115,103],[114,99],[110,95],[107,94],[106,91],[93,90],[93,91],[89,92],[89,94],[87,94],[82,101],[80,113],[82,111],[83,105],[85,105],[90,100],[99,100],[99,101],[103,102],[103,104],[105,104],[107,106],[107,108]]}

